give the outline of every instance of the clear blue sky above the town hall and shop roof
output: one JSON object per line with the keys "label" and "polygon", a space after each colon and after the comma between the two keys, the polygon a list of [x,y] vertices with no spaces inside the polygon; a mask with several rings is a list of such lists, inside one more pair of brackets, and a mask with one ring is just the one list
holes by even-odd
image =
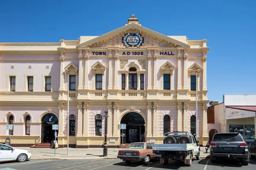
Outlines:
{"label": "clear blue sky above the town hall and shop roof", "polygon": [[0,3],[0,42],[59,42],[102,35],[131,14],[165,35],[207,39],[209,100],[223,94],[256,94],[255,0],[5,0]]}

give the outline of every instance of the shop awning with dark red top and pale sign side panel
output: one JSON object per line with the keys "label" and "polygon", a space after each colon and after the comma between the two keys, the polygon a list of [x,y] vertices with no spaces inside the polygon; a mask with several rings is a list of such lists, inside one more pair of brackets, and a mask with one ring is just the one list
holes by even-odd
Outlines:
{"label": "shop awning with dark red top and pale sign side panel", "polygon": [[240,119],[256,116],[256,106],[226,106],[226,119]]}

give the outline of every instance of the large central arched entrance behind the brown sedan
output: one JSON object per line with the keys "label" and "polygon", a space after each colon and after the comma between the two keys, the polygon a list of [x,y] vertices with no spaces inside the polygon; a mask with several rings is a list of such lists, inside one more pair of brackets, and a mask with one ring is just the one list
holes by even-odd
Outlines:
{"label": "large central arched entrance behind the brown sedan", "polygon": [[145,121],[139,113],[131,112],[125,114],[120,124],[126,124],[124,143],[145,141]]}

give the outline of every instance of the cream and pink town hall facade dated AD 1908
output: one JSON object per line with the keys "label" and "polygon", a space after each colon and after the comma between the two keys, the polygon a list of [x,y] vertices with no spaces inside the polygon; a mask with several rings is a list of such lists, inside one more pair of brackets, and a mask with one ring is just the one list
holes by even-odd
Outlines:
{"label": "cream and pink town hall facade dated AD 1908", "polygon": [[123,123],[125,143],[162,143],[166,131],[195,130],[197,88],[198,140],[206,145],[208,51],[207,40],[157,33],[134,15],[101,36],[2,42],[0,142],[9,136],[9,123],[14,126],[11,143],[20,146],[51,142],[51,125],[58,124],[60,147],[67,144],[68,130],[70,146],[102,147],[108,111],[108,147],[119,146]]}

